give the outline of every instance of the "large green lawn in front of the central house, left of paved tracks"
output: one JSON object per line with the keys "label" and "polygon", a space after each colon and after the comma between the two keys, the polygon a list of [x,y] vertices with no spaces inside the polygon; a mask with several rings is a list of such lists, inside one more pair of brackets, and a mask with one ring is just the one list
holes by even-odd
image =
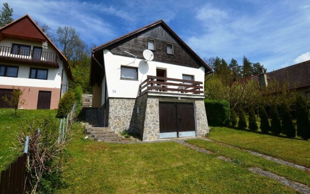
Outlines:
{"label": "large green lawn in front of the central house, left of paved tracks", "polygon": [[57,194],[295,193],[278,182],[174,143],[117,144],[82,139],[68,147]]}

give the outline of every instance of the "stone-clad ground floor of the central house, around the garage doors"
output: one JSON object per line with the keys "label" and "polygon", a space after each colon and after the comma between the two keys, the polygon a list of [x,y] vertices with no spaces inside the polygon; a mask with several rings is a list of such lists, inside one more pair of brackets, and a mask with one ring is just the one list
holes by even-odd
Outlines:
{"label": "stone-clad ground floor of the central house, around the garage doors", "polygon": [[142,141],[159,139],[159,101],[193,102],[195,110],[196,135],[209,133],[204,102],[201,98],[148,96],[143,94],[136,99],[109,98],[109,128],[115,132],[127,130],[139,133]]}

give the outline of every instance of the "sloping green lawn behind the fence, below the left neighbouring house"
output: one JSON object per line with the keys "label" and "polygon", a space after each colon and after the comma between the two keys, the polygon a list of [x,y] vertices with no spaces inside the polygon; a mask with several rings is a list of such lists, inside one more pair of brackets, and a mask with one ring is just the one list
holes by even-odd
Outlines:
{"label": "sloping green lawn behind the fence, below the left neighbouring house", "polygon": [[22,153],[16,141],[16,134],[27,128],[31,121],[45,115],[56,115],[55,110],[18,110],[0,109],[0,170],[15,160]]}

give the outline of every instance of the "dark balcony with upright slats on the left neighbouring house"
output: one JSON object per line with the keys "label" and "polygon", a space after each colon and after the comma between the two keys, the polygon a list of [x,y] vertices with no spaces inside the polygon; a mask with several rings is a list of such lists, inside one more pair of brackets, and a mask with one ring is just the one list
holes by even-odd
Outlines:
{"label": "dark balcony with upright slats on the left neighbouring house", "polygon": [[59,67],[57,63],[57,54],[42,50],[17,49],[0,46],[0,59],[8,63]]}

